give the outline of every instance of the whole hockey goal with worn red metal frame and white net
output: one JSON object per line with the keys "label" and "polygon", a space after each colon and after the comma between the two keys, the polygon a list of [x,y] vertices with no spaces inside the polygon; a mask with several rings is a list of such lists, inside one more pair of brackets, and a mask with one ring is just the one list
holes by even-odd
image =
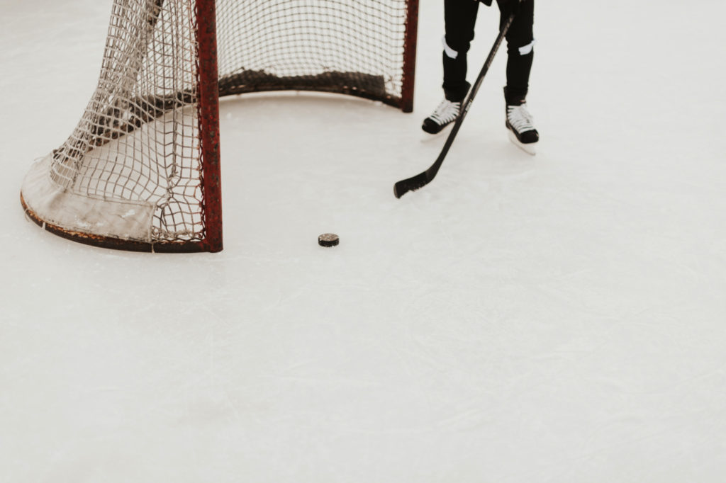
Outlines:
{"label": "whole hockey goal with worn red metal frame and white net", "polygon": [[20,197],[54,234],[222,249],[219,97],[323,91],[411,112],[417,0],[114,0],[97,89]]}

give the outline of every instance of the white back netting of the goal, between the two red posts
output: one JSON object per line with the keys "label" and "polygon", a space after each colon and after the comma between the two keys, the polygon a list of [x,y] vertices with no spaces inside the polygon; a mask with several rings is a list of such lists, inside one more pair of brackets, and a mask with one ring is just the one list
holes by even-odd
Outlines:
{"label": "white back netting of the goal, between the two red posts", "polygon": [[395,103],[404,75],[407,4],[219,1],[221,90],[342,90]]}

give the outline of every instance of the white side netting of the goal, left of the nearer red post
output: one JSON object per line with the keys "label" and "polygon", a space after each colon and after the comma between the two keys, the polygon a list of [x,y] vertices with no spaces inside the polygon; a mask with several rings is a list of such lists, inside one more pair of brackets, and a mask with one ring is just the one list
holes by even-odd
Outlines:
{"label": "white side netting of the goal, left of the nearer red post", "polygon": [[51,178],[156,207],[155,241],[200,239],[197,43],[192,0],[116,0],[98,88]]}

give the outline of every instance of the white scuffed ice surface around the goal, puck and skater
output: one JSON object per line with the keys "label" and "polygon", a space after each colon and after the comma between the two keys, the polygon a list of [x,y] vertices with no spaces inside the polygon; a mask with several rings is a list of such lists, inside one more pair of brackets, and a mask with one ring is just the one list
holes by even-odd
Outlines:
{"label": "white scuffed ice surface around the goal, puck and skater", "polygon": [[110,0],[0,0],[1,483],[725,481],[726,4],[538,1],[539,154],[507,140],[502,50],[396,199],[444,142],[421,1],[413,114],[224,99],[224,251],[149,255],[20,207]]}

